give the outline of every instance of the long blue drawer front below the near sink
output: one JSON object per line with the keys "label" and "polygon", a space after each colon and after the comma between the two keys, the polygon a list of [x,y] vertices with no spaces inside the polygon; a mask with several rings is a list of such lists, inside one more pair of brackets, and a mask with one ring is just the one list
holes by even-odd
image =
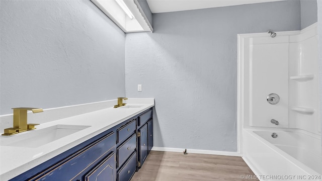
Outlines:
{"label": "long blue drawer front below the near sink", "polygon": [[84,149],[70,155],[64,159],[62,164],[52,166],[49,172],[44,173],[36,180],[71,180],[79,173],[87,169],[90,165],[95,165],[103,159],[103,156],[115,145],[116,135],[109,133],[103,138],[95,141]]}

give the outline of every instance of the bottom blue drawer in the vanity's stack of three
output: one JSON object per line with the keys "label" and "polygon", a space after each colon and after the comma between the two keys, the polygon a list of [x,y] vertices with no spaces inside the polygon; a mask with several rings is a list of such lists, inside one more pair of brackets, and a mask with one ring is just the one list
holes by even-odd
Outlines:
{"label": "bottom blue drawer in the vanity's stack of three", "polygon": [[129,161],[117,173],[117,181],[128,181],[136,170],[136,152],[131,155]]}

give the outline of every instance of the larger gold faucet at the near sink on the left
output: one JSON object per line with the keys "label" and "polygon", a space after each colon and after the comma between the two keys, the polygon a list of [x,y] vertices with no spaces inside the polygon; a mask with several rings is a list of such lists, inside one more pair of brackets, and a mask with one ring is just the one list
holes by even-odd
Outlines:
{"label": "larger gold faucet at the near sink on the left", "polygon": [[27,111],[33,113],[43,112],[40,108],[12,108],[14,110],[14,127],[5,129],[2,135],[9,136],[16,133],[36,129],[35,126],[39,124],[27,124]]}

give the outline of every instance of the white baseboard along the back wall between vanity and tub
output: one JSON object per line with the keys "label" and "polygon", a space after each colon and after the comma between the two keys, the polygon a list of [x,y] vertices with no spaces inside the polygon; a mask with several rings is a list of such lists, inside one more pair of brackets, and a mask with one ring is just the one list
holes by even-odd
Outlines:
{"label": "white baseboard along the back wall between vanity and tub", "polygon": [[[166,148],[166,147],[152,147],[153,151],[169,151],[169,152],[184,152],[184,148]],[[197,150],[187,149],[187,153],[199,153],[199,154],[212,154],[212,155],[225,155],[225,156],[241,156],[241,153],[230,151],[212,151],[212,150]]]}

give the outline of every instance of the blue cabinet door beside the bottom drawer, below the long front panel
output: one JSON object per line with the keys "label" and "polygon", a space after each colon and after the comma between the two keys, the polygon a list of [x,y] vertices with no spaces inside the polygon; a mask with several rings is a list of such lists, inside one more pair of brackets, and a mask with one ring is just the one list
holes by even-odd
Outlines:
{"label": "blue cabinet door beside the bottom drawer, below the long front panel", "polygon": [[93,170],[85,175],[86,181],[114,181],[115,180],[115,154],[108,156]]}

